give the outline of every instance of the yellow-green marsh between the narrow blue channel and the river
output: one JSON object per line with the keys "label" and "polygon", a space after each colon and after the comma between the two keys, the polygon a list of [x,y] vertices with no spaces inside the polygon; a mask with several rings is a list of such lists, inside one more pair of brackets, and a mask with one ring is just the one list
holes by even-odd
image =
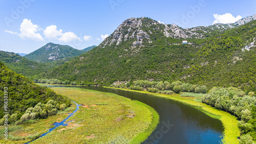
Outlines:
{"label": "yellow-green marsh between the narrow blue channel and the river", "polygon": [[58,127],[31,143],[141,143],[159,121],[150,106],[114,93],[51,88],[83,106],[68,119],[68,126]]}

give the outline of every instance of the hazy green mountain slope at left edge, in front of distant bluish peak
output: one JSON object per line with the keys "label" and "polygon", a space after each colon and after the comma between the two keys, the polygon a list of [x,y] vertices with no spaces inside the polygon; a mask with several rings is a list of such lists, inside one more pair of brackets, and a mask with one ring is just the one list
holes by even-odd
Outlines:
{"label": "hazy green mountain slope at left edge, in front of distant bluish peak", "polygon": [[47,69],[46,64],[28,60],[18,54],[0,51],[0,61],[18,74],[33,76]]}

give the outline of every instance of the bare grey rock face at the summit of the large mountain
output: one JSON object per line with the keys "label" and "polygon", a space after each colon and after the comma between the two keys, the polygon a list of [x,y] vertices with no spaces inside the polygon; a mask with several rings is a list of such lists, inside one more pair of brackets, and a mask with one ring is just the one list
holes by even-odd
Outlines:
{"label": "bare grey rock face at the summit of the large mountain", "polygon": [[165,37],[172,38],[202,38],[202,34],[198,34],[195,31],[182,29],[176,24],[164,25],[156,20],[141,17],[141,18],[130,18],[124,20],[121,25],[106,38],[102,43],[101,47],[106,45],[119,45],[123,41],[133,40],[133,46],[139,46],[145,43],[152,43],[152,34],[162,33]]}

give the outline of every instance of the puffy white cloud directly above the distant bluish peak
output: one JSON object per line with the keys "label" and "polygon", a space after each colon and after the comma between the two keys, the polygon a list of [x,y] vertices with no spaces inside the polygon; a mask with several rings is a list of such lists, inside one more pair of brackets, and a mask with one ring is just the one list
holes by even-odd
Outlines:
{"label": "puffy white cloud directly above the distant bluish peak", "polygon": [[52,25],[46,28],[46,30],[44,31],[44,35],[48,39],[58,39],[58,36],[62,36],[63,33],[61,29],[59,31],[57,30],[57,26]]}

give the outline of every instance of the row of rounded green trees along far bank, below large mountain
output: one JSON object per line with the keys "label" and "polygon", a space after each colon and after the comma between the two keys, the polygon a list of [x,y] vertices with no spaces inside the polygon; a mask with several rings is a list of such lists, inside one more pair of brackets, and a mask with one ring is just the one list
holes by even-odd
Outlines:
{"label": "row of rounded green trees along far bank, below large mountain", "polygon": [[112,84],[111,87],[116,88],[129,88],[134,90],[147,90],[150,92],[157,92],[163,94],[173,94],[180,93],[180,92],[195,92],[195,93],[206,93],[207,87],[205,85],[192,85],[188,83],[182,83],[181,81],[175,82],[163,82],[163,81],[133,81],[128,83],[122,84]]}

